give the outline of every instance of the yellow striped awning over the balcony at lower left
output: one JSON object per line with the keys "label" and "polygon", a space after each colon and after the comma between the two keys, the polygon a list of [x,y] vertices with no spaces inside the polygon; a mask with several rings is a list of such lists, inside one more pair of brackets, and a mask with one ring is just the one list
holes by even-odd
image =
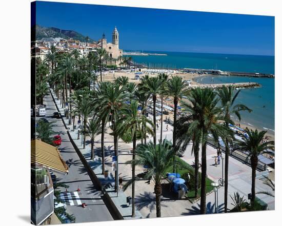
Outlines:
{"label": "yellow striped awning over the balcony at lower left", "polygon": [[36,164],[64,173],[69,170],[59,150],[38,139],[31,140],[31,165]]}

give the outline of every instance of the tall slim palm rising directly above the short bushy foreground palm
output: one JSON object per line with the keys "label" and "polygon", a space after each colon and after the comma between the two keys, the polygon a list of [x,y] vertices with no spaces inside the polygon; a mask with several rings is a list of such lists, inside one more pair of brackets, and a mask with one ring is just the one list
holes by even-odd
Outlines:
{"label": "tall slim palm rising directly above the short bushy foreground palm", "polygon": [[157,95],[162,90],[162,80],[160,80],[158,77],[150,77],[146,81],[146,88],[148,89],[148,93],[152,95],[153,99],[153,122],[154,122],[154,145],[156,146],[157,138],[156,138],[156,100]]}

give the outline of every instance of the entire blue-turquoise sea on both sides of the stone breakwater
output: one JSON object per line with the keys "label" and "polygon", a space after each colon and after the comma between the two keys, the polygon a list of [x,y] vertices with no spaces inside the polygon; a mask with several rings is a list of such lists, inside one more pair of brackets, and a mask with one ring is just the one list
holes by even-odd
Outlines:
{"label": "entire blue-turquoise sea on both sides of the stone breakwater", "polygon": [[[133,61],[145,64],[151,68],[197,68],[275,74],[274,56],[144,51],[144,53],[145,52],[167,55],[131,55]],[[237,103],[244,104],[253,110],[251,113],[241,112],[241,122],[245,125],[260,130],[267,130],[269,133],[274,134],[274,78],[207,75],[199,76],[195,81],[205,84],[242,83],[249,81],[259,83],[261,85],[260,88],[240,90],[240,94],[237,97]],[[233,117],[235,116],[233,115]]]}

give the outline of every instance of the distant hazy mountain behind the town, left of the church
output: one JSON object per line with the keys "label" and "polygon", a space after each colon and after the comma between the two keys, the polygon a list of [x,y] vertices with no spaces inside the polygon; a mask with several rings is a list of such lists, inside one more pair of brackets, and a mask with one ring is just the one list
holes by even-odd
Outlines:
{"label": "distant hazy mountain behind the town, left of the church", "polygon": [[[33,27],[34,29],[34,27]],[[85,42],[86,41],[86,36],[72,30],[62,30],[59,28],[47,28],[43,27],[40,25],[35,26],[35,35],[36,35],[36,40],[41,40],[42,38],[56,38],[56,37],[61,37],[61,38],[72,38],[75,40],[79,40],[80,42]],[[94,42],[93,39],[89,38],[88,42]]]}

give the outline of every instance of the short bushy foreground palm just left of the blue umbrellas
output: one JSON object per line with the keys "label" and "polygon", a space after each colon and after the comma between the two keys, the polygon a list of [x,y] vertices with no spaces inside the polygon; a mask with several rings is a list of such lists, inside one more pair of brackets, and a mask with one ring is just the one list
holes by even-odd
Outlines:
{"label": "short bushy foreground palm just left of the blue umbrellas", "polygon": [[174,150],[165,139],[157,146],[150,141],[147,145],[138,145],[136,148],[136,159],[129,161],[133,166],[148,166],[148,172],[144,179],[150,179],[155,183],[154,193],[156,195],[156,216],[161,217],[160,196],[162,196],[162,179],[167,169],[173,165]]}

